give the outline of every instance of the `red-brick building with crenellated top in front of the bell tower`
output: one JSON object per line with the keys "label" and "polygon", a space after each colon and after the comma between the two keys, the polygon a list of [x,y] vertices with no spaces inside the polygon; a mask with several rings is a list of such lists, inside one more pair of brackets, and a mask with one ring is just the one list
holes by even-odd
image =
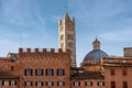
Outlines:
{"label": "red-brick building with crenellated top in front of the bell tower", "polygon": [[[63,88],[69,88],[70,86],[70,52],[64,53],[58,50],[56,53],[53,48],[40,50],[35,48],[34,52],[28,48],[26,52],[22,48],[19,50],[19,63],[20,63],[20,87],[25,86],[25,81],[32,81],[32,86],[28,88],[36,88],[35,82],[42,81],[44,88],[58,88],[58,81],[64,81]],[[26,68],[32,69],[32,76],[25,76],[24,70]],[[43,69],[42,76],[35,75],[35,69]],[[46,69],[53,69],[53,75],[47,76]],[[57,75],[57,69],[64,69],[64,76]],[[68,72],[67,72],[68,70]],[[47,81],[53,81],[53,86],[47,86]],[[26,87],[26,86],[25,86]],[[43,88],[43,87],[41,87]]]}

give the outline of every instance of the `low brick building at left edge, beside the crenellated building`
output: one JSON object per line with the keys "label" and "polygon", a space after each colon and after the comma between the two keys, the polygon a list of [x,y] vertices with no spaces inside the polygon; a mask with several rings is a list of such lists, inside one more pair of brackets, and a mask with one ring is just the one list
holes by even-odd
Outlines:
{"label": "low brick building at left edge, beside the crenellated building", "polygon": [[0,57],[0,88],[19,87],[18,54],[9,53],[7,57]]}

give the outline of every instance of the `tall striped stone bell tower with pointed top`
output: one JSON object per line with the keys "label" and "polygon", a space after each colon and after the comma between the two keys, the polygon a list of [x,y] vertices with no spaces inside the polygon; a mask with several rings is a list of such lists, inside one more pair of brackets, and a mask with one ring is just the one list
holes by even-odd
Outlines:
{"label": "tall striped stone bell tower with pointed top", "polygon": [[75,18],[69,18],[65,12],[64,18],[58,22],[58,46],[64,52],[70,50],[72,67],[76,67],[76,34],[75,34]]}

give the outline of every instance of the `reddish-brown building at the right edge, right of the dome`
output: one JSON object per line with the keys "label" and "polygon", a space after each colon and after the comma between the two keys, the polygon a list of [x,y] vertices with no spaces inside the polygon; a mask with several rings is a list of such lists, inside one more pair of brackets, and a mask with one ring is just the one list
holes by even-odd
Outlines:
{"label": "reddish-brown building at the right edge, right of the dome", "polygon": [[132,57],[108,57],[102,62],[106,88],[111,88],[111,81],[116,82],[116,88],[132,88]]}

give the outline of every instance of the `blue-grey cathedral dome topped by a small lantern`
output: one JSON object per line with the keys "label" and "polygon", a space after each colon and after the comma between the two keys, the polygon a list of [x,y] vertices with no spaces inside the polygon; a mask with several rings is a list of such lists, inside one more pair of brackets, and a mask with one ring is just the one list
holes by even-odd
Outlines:
{"label": "blue-grey cathedral dome topped by a small lantern", "polygon": [[102,57],[108,56],[108,54],[106,52],[100,50],[100,45],[101,45],[101,43],[96,37],[96,40],[92,42],[94,50],[85,56],[85,58],[82,61],[84,64],[86,64],[86,63],[100,63],[100,59]]}

